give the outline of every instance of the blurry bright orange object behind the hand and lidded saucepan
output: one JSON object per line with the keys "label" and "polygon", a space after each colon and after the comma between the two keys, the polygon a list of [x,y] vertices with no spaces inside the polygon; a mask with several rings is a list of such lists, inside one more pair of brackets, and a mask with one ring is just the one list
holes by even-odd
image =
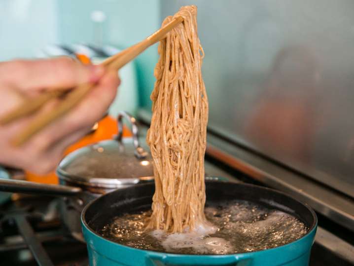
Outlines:
{"label": "blurry bright orange object behind the hand and lidded saucepan", "polygon": [[[118,133],[117,120],[110,117],[109,115],[107,115],[105,118],[103,118],[101,121],[99,121],[98,125],[96,125],[96,126],[97,126],[97,128],[94,132],[86,135],[81,140],[79,140],[75,144],[71,145],[64,152],[64,155],[67,155],[70,152],[73,152],[73,151],[80,149],[84,146],[87,146],[87,145],[90,145],[90,144],[93,144],[93,143],[96,143],[96,142],[99,142],[102,140],[111,139],[113,135],[116,135]],[[131,131],[124,125],[123,126],[123,137],[131,137],[131,136],[132,136]],[[45,183],[45,184],[58,184],[58,177],[57,177],[55,171],[53,171],[47,175],[44,175],[44,176],[35,175],[35,174],[28,172],[28,171],[25,171],[25,174],[26,174],[27,181]]]}

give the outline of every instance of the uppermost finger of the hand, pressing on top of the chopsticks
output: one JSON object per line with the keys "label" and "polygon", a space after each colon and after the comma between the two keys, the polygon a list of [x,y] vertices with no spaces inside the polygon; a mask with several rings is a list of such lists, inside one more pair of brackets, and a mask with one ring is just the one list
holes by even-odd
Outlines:
{"label": "uppermost finger of the hand, pressing on top of the chopsticks", "polygon": [[22,90],[70,88],[96,82],[104,73],[102,66],[82,65],[69,57],[0,63],[0,81]]}

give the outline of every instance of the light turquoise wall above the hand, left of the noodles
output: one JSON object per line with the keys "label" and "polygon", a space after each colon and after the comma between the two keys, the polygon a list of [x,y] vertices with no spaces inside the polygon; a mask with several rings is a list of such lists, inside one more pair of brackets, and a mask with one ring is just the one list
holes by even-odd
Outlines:
{"label": "light turquoise wall above the hand, left of the noodles", "polygon": [[[141,41],[160,27],[159,6],[159,0],[58,0],[59,39],[63,43],[96,42],[91,13],[102,10],[106,14],[102,25],[103,43],[125,48]],[[156,62],[156,45],[148,48],[135,61],[140,102],[149,97],[149,91],[153,88],[153,69]]]}

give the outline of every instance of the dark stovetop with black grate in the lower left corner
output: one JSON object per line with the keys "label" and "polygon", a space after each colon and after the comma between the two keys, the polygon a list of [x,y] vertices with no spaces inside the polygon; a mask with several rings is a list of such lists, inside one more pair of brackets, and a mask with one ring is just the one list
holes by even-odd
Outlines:
{"label": "dark stovetop with black grate in the lower left corner", "polygon": [[0,207],[1,265],[88,266],[86,244],[71,237],[57,206],[58,198],[25,196]]}

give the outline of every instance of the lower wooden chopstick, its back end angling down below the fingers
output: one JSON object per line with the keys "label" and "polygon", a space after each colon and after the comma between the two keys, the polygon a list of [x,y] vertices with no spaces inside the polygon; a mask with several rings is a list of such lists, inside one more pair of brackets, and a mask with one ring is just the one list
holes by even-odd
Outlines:
{"label": "lower wooden chopstick, its back end angling down below the fingers", "polygon": [[[109,71],[118,71],[125,64],[133,60],[147,47],[156,43],[166,36],[166,34],[183,21],[182,17],[177,17],[141,42],[115,54],[106,59],[104,65]],[[67,97],[55,109],[48,113],[38,114],[34,120],[21,131],[12,141],[15,146],[21,146],[42,128],[52,123],[59,117],[70,111],[80,100],[94,87],[92,83],[79,85],[68,93]]]}

